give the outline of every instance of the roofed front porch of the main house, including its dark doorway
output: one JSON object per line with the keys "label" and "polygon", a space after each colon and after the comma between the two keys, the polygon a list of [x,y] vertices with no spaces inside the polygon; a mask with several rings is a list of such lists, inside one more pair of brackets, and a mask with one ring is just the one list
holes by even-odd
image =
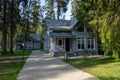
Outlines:
{"label": "roofed front porch of the main house, including its dark doorway", "polygon": [[76,38],[72,33],[52,33],[50,38],[50,53],[53,56],[74,53],[75,39]]}

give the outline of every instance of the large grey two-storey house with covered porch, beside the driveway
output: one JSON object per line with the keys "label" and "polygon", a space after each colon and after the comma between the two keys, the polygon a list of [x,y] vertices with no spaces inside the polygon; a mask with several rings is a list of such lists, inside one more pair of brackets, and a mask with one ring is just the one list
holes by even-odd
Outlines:
{"label": "large grey two-storey house with covered porch, beside the driveway", "polygon": [[44,20],[44,50],[53,56],[65,53],[97,54],[97,37],[76,20]]}

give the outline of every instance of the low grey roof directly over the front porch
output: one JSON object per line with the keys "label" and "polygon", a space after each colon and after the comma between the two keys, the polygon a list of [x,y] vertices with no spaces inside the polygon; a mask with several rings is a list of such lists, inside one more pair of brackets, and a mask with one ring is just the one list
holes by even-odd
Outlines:
{"label": "low grey roof directly over the front porch", "polygon": [[50,36],[56,38],[75,38],[75,35],[72,33],[50,33]]}

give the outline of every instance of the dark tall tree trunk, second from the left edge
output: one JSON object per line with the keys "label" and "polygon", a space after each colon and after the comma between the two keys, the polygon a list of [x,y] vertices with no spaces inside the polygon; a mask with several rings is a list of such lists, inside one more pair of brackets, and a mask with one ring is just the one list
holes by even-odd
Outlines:
{"label": "dark tall tree trunk, second from the left edge", "polygon": [[14,0],[11,3],[11,25],[10,25],[10,53],[13,53],[13,35],[14,35],[14,26],[13,23],[13,11],[14,11]]}

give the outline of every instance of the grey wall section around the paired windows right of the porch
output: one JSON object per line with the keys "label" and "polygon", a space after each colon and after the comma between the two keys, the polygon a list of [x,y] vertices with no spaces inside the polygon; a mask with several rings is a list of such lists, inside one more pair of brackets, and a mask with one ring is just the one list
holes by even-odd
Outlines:
{"label": "grey wall section around the paired windows right of the porch", "polygon": [[[82,54],[84,50],[87,50],[90,54],[97,54],[97,37],[92,34],[92,32],[87,32],[87,28],[84,27],[84,32],[78,32],[77,29],[73,31],[74,35],[76,36],[76,40],[74,42],[75,52],[78,54]],[[78,49],[78,37],[84,38],[84,45],[85,49]],[[88,49],[88,38],[94,38],[94,49]]]}

